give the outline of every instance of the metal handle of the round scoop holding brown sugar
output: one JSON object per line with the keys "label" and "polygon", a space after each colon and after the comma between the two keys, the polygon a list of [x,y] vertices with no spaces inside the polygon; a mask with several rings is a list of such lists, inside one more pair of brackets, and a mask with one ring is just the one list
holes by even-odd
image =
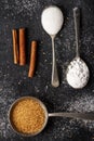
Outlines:
{"label": "metal handle of the round scoop holding brown sugar", "polygon": [[84,120],[94,120],[94,114],[90,113],[50,113],[49,117],[70,117],[70,118],[79,118]]}

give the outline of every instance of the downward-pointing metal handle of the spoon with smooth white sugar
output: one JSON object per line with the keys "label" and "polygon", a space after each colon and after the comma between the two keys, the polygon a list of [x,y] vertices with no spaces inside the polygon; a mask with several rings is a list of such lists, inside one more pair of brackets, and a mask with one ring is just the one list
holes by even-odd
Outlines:
{"label": "downward-pointing metal handle of the spoon with smooth white sugar", "polygon": [[54,38],[55,36],[51,36],[52,38],[52,86],[58,87],[59,80],[58,80],[58,74],[57,74],[57,66],[56,66],[56,59],[55,59],[55,48],[54,48]]}

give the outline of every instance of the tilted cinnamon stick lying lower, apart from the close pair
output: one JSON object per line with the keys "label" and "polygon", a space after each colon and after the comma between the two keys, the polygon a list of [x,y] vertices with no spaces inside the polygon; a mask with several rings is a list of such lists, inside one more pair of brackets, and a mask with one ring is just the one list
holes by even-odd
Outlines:
{"label": "tilted cinnamon stick lying lower, apart from the close pair", "polygon": [[29,64],[29,72],[28,77],[32,78],[35,74],[36,68],[36,60],[37,60],[37,41],[31,42],[31,49],[30,49],[30,64]]}

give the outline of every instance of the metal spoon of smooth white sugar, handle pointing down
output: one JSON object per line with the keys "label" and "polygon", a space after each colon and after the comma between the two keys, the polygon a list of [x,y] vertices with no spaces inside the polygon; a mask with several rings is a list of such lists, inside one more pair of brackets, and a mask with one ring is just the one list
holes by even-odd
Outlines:
{"label": "metal spoon of smooth white sugar, handle pointing down", "polygon": [[43,29],[51,36],[52,38],[52,86],[58,87],[59,79],[57,74],[57,66],[56,66],[56,59],[55,59],[55,49],[54,49],[54,38],[56,34],[61,30],[64,16],[59,8],[55,5],[50,5],[49,8],[44,9],[41,15],[41,23]]}

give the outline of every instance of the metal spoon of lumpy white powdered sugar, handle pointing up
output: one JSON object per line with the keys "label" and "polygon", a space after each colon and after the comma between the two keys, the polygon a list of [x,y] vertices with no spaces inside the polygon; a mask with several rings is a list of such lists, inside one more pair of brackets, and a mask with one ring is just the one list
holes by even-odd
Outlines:
{"label": "metal spoon of lumpy white powdered sugar, handle pointing up", "polygon": [[90,77],[90,70],[79,53],[79,25],[80,10],[73,9],[75,30],[76,30],[76,57],[70,62],[67,68],[67,81],[75,89],[81,89],[86,86]]}

